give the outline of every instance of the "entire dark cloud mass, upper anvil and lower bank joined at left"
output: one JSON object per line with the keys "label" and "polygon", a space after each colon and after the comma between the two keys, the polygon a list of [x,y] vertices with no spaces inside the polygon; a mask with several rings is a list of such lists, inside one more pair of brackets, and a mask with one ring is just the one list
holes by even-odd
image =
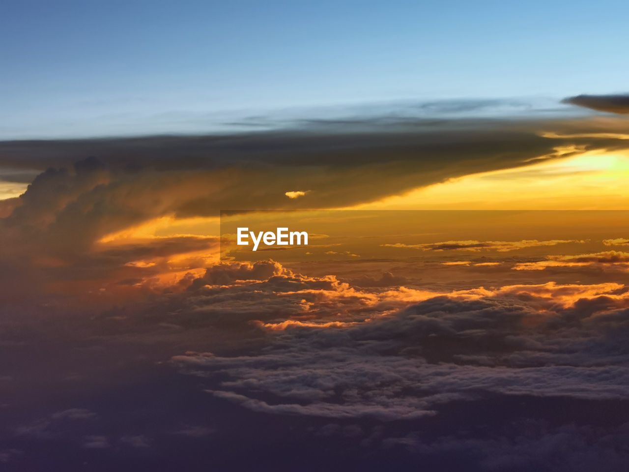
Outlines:
{"label": "entire dark cloud mass, upper anvil and lower bank joined at left", "polygon": [[[0,384],[8,393],[0,464],[625,471],[622,284],[595,295],[574,284],[413,301],[398,288],[408,279],[395,273],[348,284],[262,262],[210,267],[152,291],[136,282],[156,269],[127,262],[218,242],[173,237],[94,248],[103,235],[156,216],[345,206],[557,159],[556,147],[626,146],[541,134],[603,131],[596,126],[389,120],[0,143],[1,166],[41,172],[1,210]],[[624,125],[608,126],[621,132]],[[284,196],[296,189],[309,193]],[[104,280],[133,298],[99,301]],[[63,283],[96,293],[50,289]],[[562,302],[567,296],[570,303]]]}

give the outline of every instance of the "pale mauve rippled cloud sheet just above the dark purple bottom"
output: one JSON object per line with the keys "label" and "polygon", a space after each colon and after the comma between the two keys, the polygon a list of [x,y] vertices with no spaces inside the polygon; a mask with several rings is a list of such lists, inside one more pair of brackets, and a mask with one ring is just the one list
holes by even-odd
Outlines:
{"label": "pale mauve rippled cloud sheet just above the dark purple bottom", "polygon": [[[470,333],[471,335],[471,333]],[[409,353],[411,351],[408,351]],[[289,359],[290,356],[290,359]],[[504,395],[629,398],[629,371],[622,366],[497,366],[431,364],[420,358],[374,355],[357,349],[292,351],[253,358],[177,356],[192,372],[228,374],[214,396],[259,412],[322,417],[410,419],[435,413],[437,405],[487,392]],[[248,392],[248,395],[238,393]],[[268,402],[256,393],[277,398]]]}

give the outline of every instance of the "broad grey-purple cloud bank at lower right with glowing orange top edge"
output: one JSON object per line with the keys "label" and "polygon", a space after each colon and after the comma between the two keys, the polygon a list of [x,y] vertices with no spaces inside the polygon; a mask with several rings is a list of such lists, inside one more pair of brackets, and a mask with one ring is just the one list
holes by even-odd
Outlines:
{"label": "broad grey-purple cloud bank at lower right with glowing orange top edge", "polygon": [[223,378],[209,390],[217,398],[284,415],[412,419],[489,393],[629,400],[626,355],[615,354],[629,339],[629,323],[619,321],[629,306],[624,289],[393,290],[381,300],[423,298],[396,313],[372,301],[381,316],[363,322],[341,323],[348,318],[330,305],[309,322],[260,325],[280,337],[257,354],[187,353],[173,362],[184,373]]}

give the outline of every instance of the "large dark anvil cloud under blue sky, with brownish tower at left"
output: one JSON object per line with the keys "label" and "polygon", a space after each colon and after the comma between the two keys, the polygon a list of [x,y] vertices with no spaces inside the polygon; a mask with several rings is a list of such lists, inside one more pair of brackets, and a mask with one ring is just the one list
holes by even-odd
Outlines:
{"label": "large dark anvil cloud under blue sky, with brownish tower at left", "polygon": [[[450,103],[445,109],[452,106],[474,110],[486,104]],[[435,104],[426,108],[437,109]],[[4,274],[11,274],[6,282],[0,280],[0,297],[25,300],[29,293],[33,303],[48,303],[50,296],[85,291],[73,274],[84,284],[91,281],[91,293],[104,288],[103,299],[123,288],[130,296],[140,284],[120,282],[143,279],[156,287],[167,271],[196,274],[206,268],[208,258],[176,269],[169,269],[167,261],[145,260],[152,256],[132,259],[140,244],[115,256],[116,264],[101,252],[104,237],[159,218],[212,218],[225,208],[346,208],[469,174],[571,155],[557,153],[558,147],[575,154],[623,146],[613,137],[575,137],[596,125],[586,119],[499,122],[376,115],[303,121],[290,129],[255,133],[0,142],[1,169],[15,176],[39,172],[22,196],[0,203],[0,264]],[[609,126],[620,128],[619,123]],[[542,135],[540,129],[555,135]],[[308,189],[289,191],[307,193],[307,198],[287,198],[286,182]],[[196,243],[201,244],[192,238],[177,242]],[[474,250],[474,243],[464,246],[459,249]],[[218,248],[211,253],[218,257]],[[51,279],[59,281],[54,289],[47,283]]]}

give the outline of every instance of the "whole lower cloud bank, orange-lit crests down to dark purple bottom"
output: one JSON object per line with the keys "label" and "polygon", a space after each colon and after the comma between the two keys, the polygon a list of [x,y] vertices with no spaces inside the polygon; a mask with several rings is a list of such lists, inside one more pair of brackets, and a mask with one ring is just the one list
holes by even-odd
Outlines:
{"label": "whole lower cloud bank, orange-lit crests down to dark purple bottom", "polygon": [[[4,335],[31,369],[57,352],[53,370],[65,376],[48,374],[50,398],[28,414],[4,413],[9,469],[50,460],[94,470],[629,464],[621,284],[521,285],[413,303],[397,288],[360,289],[272,261],[211,267],[188,283],[132,316],[91,320],[92,335],[66,333],[65,359],[47,346],[50,333],[44,342]],[[284,320],[296,323],[270,328]],[[169,352],[178,354],[162,362]],[[23,385],[24,372],[8,374],[8,385]],[[38,398],[23,396],[9,401]]]}

